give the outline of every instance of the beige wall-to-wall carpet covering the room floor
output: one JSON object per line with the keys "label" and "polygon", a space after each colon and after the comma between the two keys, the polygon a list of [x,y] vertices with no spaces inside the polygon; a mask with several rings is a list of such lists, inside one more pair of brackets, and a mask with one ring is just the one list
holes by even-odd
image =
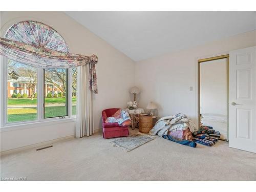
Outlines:
{"label": "beige wall-to-wall carpet covering the room floor", "polygon": [[[131,130],[130,133],[137,132]],[[215,146],[191,148],[157,136],[131,152],[101,133],[52,148],[3,155],[1,178],[27,180],[256,180],[256,154]]]}

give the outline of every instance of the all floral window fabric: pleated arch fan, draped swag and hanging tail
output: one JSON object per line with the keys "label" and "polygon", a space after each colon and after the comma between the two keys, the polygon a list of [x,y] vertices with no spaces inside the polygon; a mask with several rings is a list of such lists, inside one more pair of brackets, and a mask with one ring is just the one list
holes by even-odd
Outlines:
{"label": "all floral window fabric: pleated arch fan, draped swag and hanging tail", "polygon": [[0,54],[11,60],[37,68],[72,68],[89,65],[89,89],[95,94],[96,55],[69,53],[65,40],[53,28],[40,22],[25,21],[13,25],[0,37]]}

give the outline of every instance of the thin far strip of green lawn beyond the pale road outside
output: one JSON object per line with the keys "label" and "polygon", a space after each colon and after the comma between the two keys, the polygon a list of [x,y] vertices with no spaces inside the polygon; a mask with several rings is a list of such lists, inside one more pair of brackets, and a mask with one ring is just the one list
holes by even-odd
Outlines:
{"label": "thin far strip of green lawn beyond the pale road outside", "polygon": [[[45,98],[46,103],[65,103],[66,98]],[[29,105],[36,104],[37,98],[31,100],[30,98],[8,98],[8,105]],[[76,103],[76,97],[72,97],[72,103]]]}

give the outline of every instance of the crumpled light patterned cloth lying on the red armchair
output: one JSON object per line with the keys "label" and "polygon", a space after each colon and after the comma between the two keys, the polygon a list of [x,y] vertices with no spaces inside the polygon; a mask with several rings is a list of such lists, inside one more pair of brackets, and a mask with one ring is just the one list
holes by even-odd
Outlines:
{"label": "crumpled light patterned cloth lying on the red armchair", "polygon": [[118,123],[121,126],[131,125],[131,118],[128,112],[124,110],[118,110],[111,117],[106,118],[105,123]]}

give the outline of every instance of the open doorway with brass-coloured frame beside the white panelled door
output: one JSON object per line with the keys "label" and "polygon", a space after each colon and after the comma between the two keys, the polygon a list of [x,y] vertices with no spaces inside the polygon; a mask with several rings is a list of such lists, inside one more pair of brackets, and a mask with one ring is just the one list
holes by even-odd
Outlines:
{"label": "open doorway with brass-coloured frame beside the white panelled door", "polygon": [[228,141],[229,55],[198,60],[198,119]]}

